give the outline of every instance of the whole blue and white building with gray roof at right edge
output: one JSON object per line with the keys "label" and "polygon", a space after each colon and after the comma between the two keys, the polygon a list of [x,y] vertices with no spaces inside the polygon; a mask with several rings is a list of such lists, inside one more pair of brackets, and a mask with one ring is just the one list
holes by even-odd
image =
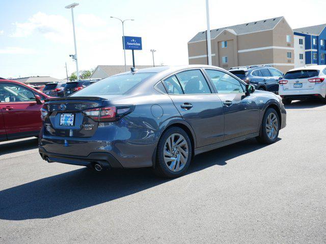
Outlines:
{"label": "whole blue and white building with gray roof at right edge", "polygon": [[[294,43],[294,63],[300,65],[326,64],[326,24],[293,29],[297,43]],[[301,50],[304,50],[304,58]],[[299,62],[298,63],[298,60]],[[302,62],[302,63],[301,63]],[[302,66],[302,65],[301,65]]]}

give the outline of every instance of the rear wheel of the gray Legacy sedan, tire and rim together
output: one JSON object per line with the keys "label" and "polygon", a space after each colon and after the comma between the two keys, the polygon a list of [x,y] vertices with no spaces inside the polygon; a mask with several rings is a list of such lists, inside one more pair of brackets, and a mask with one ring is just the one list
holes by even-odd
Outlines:
{"label": "rear wheel of the gray Legacy sedan, tire and rim together", "polygon": [[192,143],[184,130],[179,127],[169,128],[158,141],[154,173],[165,178],[183,175],[192,160],[192,149]]}

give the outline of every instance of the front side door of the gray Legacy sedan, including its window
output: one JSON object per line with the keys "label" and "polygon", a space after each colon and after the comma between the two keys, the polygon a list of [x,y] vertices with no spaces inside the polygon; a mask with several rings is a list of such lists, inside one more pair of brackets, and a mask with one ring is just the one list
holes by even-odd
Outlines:
{"label": "front side door of the gray Legacy sedan, including its window", "polygon": [[259,108],[255,95],[246,95],[244,85],[223,71],[206,69],[206,72],[223,103],[224,140],[258,132]]}

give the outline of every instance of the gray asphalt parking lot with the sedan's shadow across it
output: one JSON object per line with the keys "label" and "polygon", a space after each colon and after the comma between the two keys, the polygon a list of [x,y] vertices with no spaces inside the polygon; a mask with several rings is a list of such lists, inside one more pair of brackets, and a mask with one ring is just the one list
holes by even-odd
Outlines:
{"label": "gray asphalt parking lot with the sedan's shadow across it", "polygon": [[0,243],[326,243],[325,123],[326,105],[295,102],[275,144],[213,150],[172,180],[0,143]]}

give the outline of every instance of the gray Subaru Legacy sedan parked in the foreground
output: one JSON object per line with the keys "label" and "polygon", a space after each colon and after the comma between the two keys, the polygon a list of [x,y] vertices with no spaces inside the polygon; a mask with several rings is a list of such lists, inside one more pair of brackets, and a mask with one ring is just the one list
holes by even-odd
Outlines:
{"label": "gray Subaru Legacy sedan parked in the foreground", "polygon": [[155,67],[102,79],[46,100],[39,152],[97,171],[152,167],[184,174],[194,156],[249,138],[277,141],[282,100],[214,66]]}

